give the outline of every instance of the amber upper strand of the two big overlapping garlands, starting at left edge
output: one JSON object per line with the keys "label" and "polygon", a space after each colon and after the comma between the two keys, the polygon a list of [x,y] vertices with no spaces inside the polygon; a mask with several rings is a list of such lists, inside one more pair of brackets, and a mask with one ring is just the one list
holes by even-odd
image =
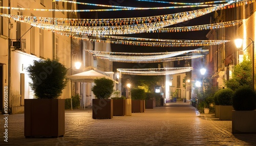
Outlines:
{"label": "amber upper strand of the two big overlapping garlands, starting at left edge", "polygon": [[[134,18],[110,18],[110,19],[78,19],[78,18],[50,18],[50,17],[35,17],[35,16],[23,16],[23,15],[9,15],[2,14],[5,17],[15,19],[17,21],[38,23],[39,25],[48,24],[53,26],[75,26],[75,27],[88,27],[87,29],[121,29],[125,26],[141,25],[145,23],[163,22],[170,19],[177,20],[177,18],[199,15],[201,13],[207,13],[207,11],[213,12],[220,7],[210,7],[194,11],[180,12],[175,14],[149,16],[149,17],[134,17]],[[122,26],[122,27],[121,27]]]}

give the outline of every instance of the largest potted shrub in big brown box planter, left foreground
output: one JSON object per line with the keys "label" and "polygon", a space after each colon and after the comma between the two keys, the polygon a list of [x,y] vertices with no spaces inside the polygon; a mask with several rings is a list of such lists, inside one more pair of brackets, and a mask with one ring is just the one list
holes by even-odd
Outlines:
{"label": "largest potted shrub in big brown box planter, left foreground", "polygon": [[25,137],[65,134],[65,100],[58,99],[67,84],[68,69],[58,60],[34,61],[26,68],[35,99],[25,99]]}

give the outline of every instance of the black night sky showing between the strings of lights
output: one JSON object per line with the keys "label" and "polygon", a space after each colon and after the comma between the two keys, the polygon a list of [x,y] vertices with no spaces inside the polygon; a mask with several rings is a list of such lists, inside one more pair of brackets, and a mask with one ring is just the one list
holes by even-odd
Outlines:
{"label": "black night sky showing between the strings of lights", "polygon": [[[116,6],[129,6],[129,7],[166,7],[174,6],[169,4],[160,3],[150,3],[150,2],[139,2],[136,0],[91,0],[91,1],[79,1],[83,3],[92,4],[104,4],[104,5],[116,5]],[[168,1],[168,2],[186,2],[186,3],[200,3],[205,1]],[[104,9],[104,7],[94,7],[94,6],[82,6],[78,5],[78,9]],[[163,14],[173,14],[184,11],[192,11],[197,8],[186,8],[186,9],[165,9],[165,10],[130,10],[130,11],[110,11],[110,12],[83,12],[80,13],[81,18],[124,18],[124,17],[143,17],[143,16],[155,16]],[[210,23],[210,17],[212,13],[185,21],[183,23],[178,23],[170,27],[182,27],[182,26],[194,26],[203,25]],[[131,37],[143,37],[143,38],[164,38],[164,39],[192,39],[192,40],[205,40],[206,34],[209,31],[195,31],[195,32],[181,32],[181,33],[143,33],[143,34],[132,34],[125,35]],[[111,44],[112,52],[172,52],[172,51],[183,51],[183,50],[194,50],[197,47],[148,47],[148,46],[133,46],[133,45],[120,45]],[[124,65],[125,64],[125,65]],[[152,64],[153,65],[153,64]],[[152,66],[150,65],[150,66]],[[124,68],[124,66],[131,67],[132,63],[117,63],[113,62],[114,68]],[[157,67],[157,66],[155,66]]]}

